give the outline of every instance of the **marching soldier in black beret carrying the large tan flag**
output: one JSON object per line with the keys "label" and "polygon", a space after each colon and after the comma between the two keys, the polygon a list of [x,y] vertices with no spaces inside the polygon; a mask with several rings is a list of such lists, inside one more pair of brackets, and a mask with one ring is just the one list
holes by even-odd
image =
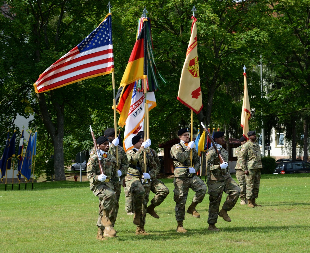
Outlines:
{"label": "marching soldier in black beret carrying the large tan flag", "polygon": [[[189,141],[188,128],[182,128],[178,131],[180,139],[179,144],[175,144],[170,149],[170,154],[173,159],[175,179],[173,190],[175,201],[175,219],[178,226],[176,231],[179,233],[186,233],[187,230],[183,227],[183,220],[185,220],[185,204],[187,200],[189,188],[195,192],[193,202],[188,207],[187,212],[193,217],[199,218],[200,214],[196,211],[196,206],[201,203],[206,195],[207,187],[204,182],[196,176],[196,172],[200,170],[200,159],[197,151],[194,148],[194,142]],[[191,150],[193,154],[193,167],[191,165]]]}

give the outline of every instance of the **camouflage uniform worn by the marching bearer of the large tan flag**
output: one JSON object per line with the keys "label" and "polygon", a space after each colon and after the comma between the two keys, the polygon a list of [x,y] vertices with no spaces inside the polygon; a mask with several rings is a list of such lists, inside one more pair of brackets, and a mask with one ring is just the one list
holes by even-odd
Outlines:
{"label": "camouflage uniform worn by the marching bearer of the large tan flag", "polygon": [[[193,151],[193,167],[195,171],[200,170],[200,159],[198,157],[195,148]],[[191,174],[192,177],[188,177],[188,166],[191,164],[191,150],[187,149],[184,143],[181,141],[179,144],[175,144],[170,149],[171,157],[173,158],[173,165],[175,167],[173,184],[175,189],[173,190],[175,201],[175,219],[177,221],[185,220],[185,204],[187,200],[189,188],[195,192],[193,202],[201,203],[206,195],[207,187],[204,182],[195,174]]]}

